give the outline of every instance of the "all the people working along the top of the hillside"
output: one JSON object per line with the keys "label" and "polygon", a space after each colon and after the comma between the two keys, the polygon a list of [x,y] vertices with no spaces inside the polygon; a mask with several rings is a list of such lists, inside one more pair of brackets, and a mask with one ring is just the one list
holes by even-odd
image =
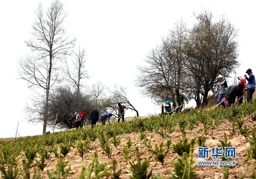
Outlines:
{"label": "all the people working along the top of the hillside", "polygon": [[[248,77],[247,77],[247,75]],[[224,105],[224,101],[227,101],[227,106],[231,106],[231,104],[234,104],[236,101],[236,98],[238,99],[239,104],[242,104],[243,102],[243,96],[246,94],[246,101],[251,102],[252,95],[255,92],[255,76],[252,73],[251,69],[248,69],[246,71],[246,74],[244,75],[244,78],[242,76],[238,77],[238,84],[236,85],[227,85],[227,81],[223,78],[222,75],[218,76],[218,85],[217,85],[217,104]],[[247,81],[247,86],[246,86]],[[176,113],[179,113],[182,111],[184,104],[188,104],[188,98],[183,94],[180,93],[179,90],[176,90],[174,92],[175,94],[175,105],[176,108],[172,110],[172,105],[170,104],[169,100],[165,100],[164,103],[162,103],[162,111],[161,114],[169,114],[172,111],[176,111]],[[186,101],[186,103],[184,103]],[[120,119],[122,118],[122,121],[124,121],[124,112],[125,109],[127,109],[126,106],[121,105],[121,103],[118,103],[118,119],[117,122],[120,122]],[[83,121],[86,118],[86,112],[81,109],[79,113],[74,113],[74,116],[76,118],[76,128],[83,126]],[[112,117],[111,113],[104,113],[100,116],[102,125],[105,125],[106,120],[109,120]],[[99,120],[99,111],[97,108],[95,108],[90,116],[91,119],[91,125],[92,127],[97,123]]]}

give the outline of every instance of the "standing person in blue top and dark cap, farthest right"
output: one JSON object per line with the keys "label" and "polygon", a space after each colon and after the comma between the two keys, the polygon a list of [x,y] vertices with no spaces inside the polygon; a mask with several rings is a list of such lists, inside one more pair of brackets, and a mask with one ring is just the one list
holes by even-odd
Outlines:
{"label": "standing person in blue top and dark cap, farthest right", "polygon": [[255,76],[251,72],[251,69],[246,70],[246,72],[249,77],[245,74],[244,77],[248,81],[247,82],[247,88],[246,88],[246,101],[249,103],[252,100],[252,95],[255,92]]}

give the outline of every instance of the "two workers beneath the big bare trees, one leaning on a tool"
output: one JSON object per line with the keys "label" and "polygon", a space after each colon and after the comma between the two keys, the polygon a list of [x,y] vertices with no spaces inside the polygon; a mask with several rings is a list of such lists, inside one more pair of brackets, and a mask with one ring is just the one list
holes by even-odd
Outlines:
{"label": "two workers beneath the big bare trees, one leaning on a tool", "polygon": [[[188,104],[188,98],[183,93],[180,93],[178,89],[175,90],[174,94],[176,108],[172,110],[172,106],[170,105],[169,100],[165,100],[165,102],[162,103],[161,114],[170,114],[174,110],[176,111],[176,113],[179,113],[183,109],[184,104]],[[184,100],[186,101],[186,103],[184,103]]]}

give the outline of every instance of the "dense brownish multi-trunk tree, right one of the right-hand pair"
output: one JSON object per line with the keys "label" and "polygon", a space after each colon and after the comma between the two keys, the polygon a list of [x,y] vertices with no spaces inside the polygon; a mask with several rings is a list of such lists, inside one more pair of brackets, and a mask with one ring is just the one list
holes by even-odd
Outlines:
{"label": "dense brownish multi-trunk tree, right one of the right-hand pair", "polygon": [[195,100],[199,107],[207,105],[208,92],[216,77],[219,74],[229,77],[239,62],[237,30],[224,17],[215,22],[211,12],[204,11],[196,17],[198,23],[186,41],[185,64],[195,81]]}

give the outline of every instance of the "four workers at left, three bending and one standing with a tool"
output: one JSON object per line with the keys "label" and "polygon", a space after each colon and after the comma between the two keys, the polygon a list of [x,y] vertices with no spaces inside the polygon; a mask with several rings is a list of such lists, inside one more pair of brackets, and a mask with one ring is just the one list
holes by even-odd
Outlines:
{"label": "four workers at left, three bending and one standing with a tool", "polygon": [[[120,122],[120,118],[122,118],[122,121],[124,121],[124,111],[125,109],[127,109],[126,106],[121,105],[121,103],[118,103],[118,119],[117,122]],[[83,127],[83,122],[84,119],[86,119],[86,112],[81,109],[79,113],[74,113],[75,116],[75,126],[76,128],[81,128]],[[102,125],[105,125],[106,120],[110,120],[110,118],[112,117],[112,113],[104,113],[100,116],[101,119],[101,123]],[[99,120],[99,111],[97,108],[94,108],[92,110],[91,116],[90,116],[90,120],[91,120],[91,127],[93,128],[94,125],[96,125],[97,121]]]}

